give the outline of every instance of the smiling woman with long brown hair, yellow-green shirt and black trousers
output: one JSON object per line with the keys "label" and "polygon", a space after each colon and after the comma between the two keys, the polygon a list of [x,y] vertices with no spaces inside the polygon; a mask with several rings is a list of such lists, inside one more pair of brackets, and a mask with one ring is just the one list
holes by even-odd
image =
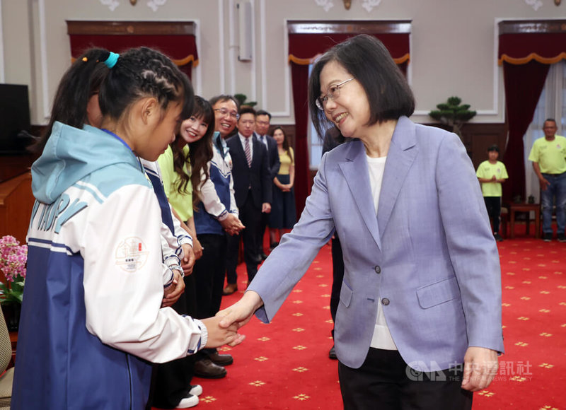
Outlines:
{"label": "smiling woman with long brown hair, yellow-green shirt and black trousers", "polygon": [[[209,178],[207,163],[212,159],[212,121],[214,112],[209,102],[195,96],[192,114],[181,122],[175,140],[158,158],[166,195],[173,211],[190,230],[197,259],[202,256],[203,249],[197,239],[193,210],[197,209],[199,203],[201,180],[204,183]],[[204,280],[202,271],[195,268],[196,264],[192,274],[185,276],[184,297],[173,305],[179,313],[192,317],[197,317],[200,312],[202,303],[197,295],[201,293],[200,282]],[[195,374],[196,360],[196,356],[191,356],[158,366],[152,402],[154,406],[184,409],[198,404],[197,396],[202,393],[202,387],[190,384]]]}

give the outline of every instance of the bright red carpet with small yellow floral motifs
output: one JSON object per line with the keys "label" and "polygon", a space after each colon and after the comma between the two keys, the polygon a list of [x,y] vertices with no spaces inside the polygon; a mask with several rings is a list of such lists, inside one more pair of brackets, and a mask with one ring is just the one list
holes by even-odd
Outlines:
{"label": "bright red carpet with small yellow floral motifs", "polygon": [[[496,381],[474,394],[473,409],[566,410],[566,243],[522,237],[501,242],[499,254],[507,353]],[[234,357],[228,375],[193,380],[204,389],[197,408],[342,409],[337,361],[328,358],[331,283],[325,246],[272,324],[253,318],[241,330],[243,344],[221,349]],[[241,293],[224,297],[223,306]]]}

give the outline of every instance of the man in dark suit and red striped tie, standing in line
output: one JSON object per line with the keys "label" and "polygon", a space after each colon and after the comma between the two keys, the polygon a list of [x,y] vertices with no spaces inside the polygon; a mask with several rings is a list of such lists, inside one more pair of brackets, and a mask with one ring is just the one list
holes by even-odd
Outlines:
{"label": "man in dark suit and red striped tie, standing in line", "polygon": [[[234,197],[238,206],[240,220],[246,228],[241,232],[244,250],[244,262],[248,270],[248,283],[258,271],[260,258],[258,255],[258,230],[262,213],[271,211],[272,179],[267,160],[267,149],[253,138],[255,129],[255,110],[242,107],[238,119],[238,134],[226,140],[232,157],[232,177]],[[228,255],[226,274],[228,284],[224,294],[231,293],[236,287],[236,266],[238,266],[238,250],[240,235],[228,238]]]}

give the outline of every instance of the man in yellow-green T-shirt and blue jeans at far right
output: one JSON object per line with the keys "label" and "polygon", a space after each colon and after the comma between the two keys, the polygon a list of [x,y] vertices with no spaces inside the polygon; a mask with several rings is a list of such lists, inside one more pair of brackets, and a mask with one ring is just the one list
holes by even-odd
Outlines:
{"label": "man in yellow-green T-shirt and blue jeans at far right", "polygon": [[529,160],[541,183],[541,204],[543,213],[543,240],[553,238],[553,199],[556,197],[556,225],[558,241],[566,242],[566,138],[556,135],[556,121],[548,118],[543,124],[544,138],[536,139]]}

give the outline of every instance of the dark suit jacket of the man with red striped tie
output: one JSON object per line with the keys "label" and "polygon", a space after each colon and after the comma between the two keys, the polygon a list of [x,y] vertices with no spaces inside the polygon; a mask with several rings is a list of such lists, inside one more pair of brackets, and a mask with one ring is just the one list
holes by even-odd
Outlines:
{"label": "dark suit jacket of the man with red striped tie", "polygon": [[246,153],[240,142],[240,136],[236,134],[226,140],[232,157],[232,178],[234,181],[234,197],[236,205],[243,206],[248,196],[248,187],[251,187],[253,204],[261,209],[261,204],[271,204],[272,177],[267,160],[267,150],[258,139],[250,137],[253,144],[252,166],[248,167]]}

